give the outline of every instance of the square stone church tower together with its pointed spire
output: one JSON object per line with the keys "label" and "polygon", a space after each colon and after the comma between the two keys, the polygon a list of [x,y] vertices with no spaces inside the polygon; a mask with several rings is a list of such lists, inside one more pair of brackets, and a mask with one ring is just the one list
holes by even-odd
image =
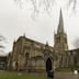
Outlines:
{"label": "square stone church tower together with its pointed spire", "polygon": [[64,20],[61,10],[57,33],[54,34],[54,48],[56,53],[64,53],[65,50],[68,50],[67,34],[64,31]]}

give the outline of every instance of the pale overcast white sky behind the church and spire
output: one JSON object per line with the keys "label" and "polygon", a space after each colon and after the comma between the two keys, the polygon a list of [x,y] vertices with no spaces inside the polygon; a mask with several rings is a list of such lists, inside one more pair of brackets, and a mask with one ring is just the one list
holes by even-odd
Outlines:
{"label": "pale overcast white sky behind the church and spire", "polygon": [[7,38],[4,54],[11,52],[13,42],[24,34],[29,38],[44,44],[48,42],[54,46],[54,32],[57,31],[60,8],[68,46],[69,49],[74,49],[74,42],[79,37],[79,12],[72,13],[71,8],[67,10],[64,4],[59,0],[54,4],[50,14],[44,11],[33,20],[32,11],[29,9],[21,9],[13,0],[0,0],[0,34]]}

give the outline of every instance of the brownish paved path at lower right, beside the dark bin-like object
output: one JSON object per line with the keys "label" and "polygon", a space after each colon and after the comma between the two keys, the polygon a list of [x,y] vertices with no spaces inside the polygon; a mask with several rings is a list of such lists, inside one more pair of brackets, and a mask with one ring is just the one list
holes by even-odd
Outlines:
{"label": "brownish paved path at lower right, beside the dark bin-like object", "polygon": [[79,74],[75,75],[72,72],[56,72],[55,79],[79,79]]}

